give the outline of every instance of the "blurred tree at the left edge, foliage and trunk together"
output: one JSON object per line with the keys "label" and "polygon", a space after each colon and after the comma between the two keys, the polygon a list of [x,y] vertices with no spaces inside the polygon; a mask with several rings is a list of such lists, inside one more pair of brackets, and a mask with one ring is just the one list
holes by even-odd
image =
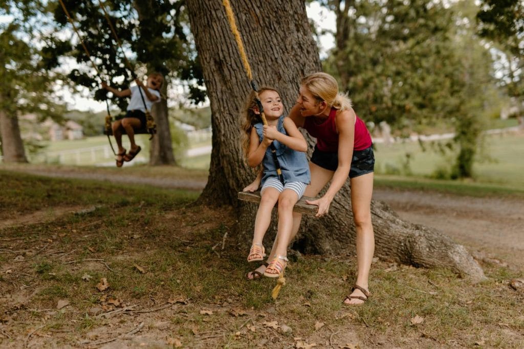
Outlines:
{"label": "blurred tree at the left edge, foliage and trunk together", "polygon": [[[10,18],[0,24],[0,139],[5,162],[27,162],[18,117],[36,112],[41,121],[59,119],[61,108],[54,100],[52,83],[60,77],[57,62],[47,60],[42,47],[49,29],[48,10],[40,1],[7,1],[0,15]],[[49,41],[50,42],[50,41]],[[60,48],[57,48],[60,49]]]}

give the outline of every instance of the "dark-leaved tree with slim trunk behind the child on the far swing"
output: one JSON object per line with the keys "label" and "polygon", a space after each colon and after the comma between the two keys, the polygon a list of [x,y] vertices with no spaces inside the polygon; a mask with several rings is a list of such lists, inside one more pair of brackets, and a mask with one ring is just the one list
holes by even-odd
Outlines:
{"label": "dark-leaved tree with slim trunk behind the child on the far swing", "polygon": [[[111,32],[99,6],[99,2],[77,2],[64,0],[68,12],[74,17],[75,25],[104,76],[96,77],[89,58],[77,42],[71,53],[80,64],[69,77],[74,84],[96,91],[97,100],[104,100],[106,92],[100,90],[100,79],[108,79],[117,88],[127,88],[132,82],[132,73],[125,57],[136,68],[133,73],[142,78],[148,71],[158,71],[166,77],[162,94],[166,96],[173,81],[185,81],[189,98],[195,103],[202,102],[205,95],[199,84],[202,82],[198,61],[191,50],[184,30],[184,1],[141,1],[112,0],[103,2],[110,21],[122,44],[123,51]],[[55,11],[57,22],[66,26],[68,19],[63,9]],[[116,104],[126,109],[127,100],[117,99]],[[169,132],[167,100],[155,104],[152,114],[157,122],[157,137],[151,144],[150,164],[174,164],[174,156]]]}

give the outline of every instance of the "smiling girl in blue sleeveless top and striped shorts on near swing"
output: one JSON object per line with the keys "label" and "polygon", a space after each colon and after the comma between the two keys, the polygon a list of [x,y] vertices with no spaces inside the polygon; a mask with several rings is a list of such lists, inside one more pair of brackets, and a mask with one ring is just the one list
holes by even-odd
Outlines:
{"label": "smiling girl in blue sleeveless top and striped shorts on near swing", "polygon": [[[293,207],[302,197],[306,185],[310,182],[309,165],[305,155],[308,144],[293,121],[282,116],[283,104],[276,89],[261,88],[259,99],[268,125],[262,122],[255,92],[249,95],[244,110],[243,150],[247,163],[252,167],[260,165],[263,167],[260,204],[255,219],[253,244],[247,261],[264,260],[266,254],[262,241],[269,228],[271,210],[278,201],[279,243],[276,246],[275,254],[269,256],[269,264],[266,264],[267,268],[264,271],[264,276],[278,277],[288,262],[287,241],[290,240],[293,226]],[[271,143],[276,148],[284,183],[280,182],[277,174],[270,149]],[[260,278],[261,274],[255,271],[248,273],[246,277],[248,279]]]}

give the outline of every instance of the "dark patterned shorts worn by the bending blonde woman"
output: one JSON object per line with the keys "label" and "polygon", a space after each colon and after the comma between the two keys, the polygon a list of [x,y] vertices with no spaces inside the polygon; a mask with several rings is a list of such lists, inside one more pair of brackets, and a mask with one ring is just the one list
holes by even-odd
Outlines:
{"label": "dark patterned shorts worn by the bending blonde woman", "polygon": [[[338,152],[323,152],[316,148],[311,155],[311,162],[319,165],[322,168],[330,171],[336,171],[339,167],[339,153]],[[364,150],[354,150],[353,158],[351,160],[350,178],[372,173],[375,168],[375,154],[373,153],[373,145]]]}

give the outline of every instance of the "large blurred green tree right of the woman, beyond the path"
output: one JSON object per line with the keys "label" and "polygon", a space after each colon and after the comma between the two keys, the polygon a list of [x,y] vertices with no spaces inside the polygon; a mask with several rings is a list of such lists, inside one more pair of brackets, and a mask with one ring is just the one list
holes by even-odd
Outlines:
{"label": "large blurred green tree right of the woman, beyond the path", "polygon": [[450,177],[471,177],[484,114],[478,102],[492,71],[475,40],[472,2],[322,4],[336,14],[336,46],[325,69],[340,77],[364,119],[386,121],[404,136],[453,127],[454,142],[439,149],[455,149]]}

